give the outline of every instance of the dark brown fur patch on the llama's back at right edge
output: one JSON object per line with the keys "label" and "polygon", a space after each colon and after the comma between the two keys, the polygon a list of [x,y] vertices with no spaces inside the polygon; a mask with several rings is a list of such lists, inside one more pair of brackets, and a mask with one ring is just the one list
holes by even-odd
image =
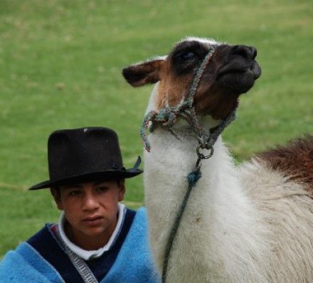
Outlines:
{"label": "dark brown fur patch on the llama's back at right edge", "polygon": [[277,146],[257,157],[290,180],[306,183],[307,191],[313,196],[313,136],[292,140],[287,146]]}

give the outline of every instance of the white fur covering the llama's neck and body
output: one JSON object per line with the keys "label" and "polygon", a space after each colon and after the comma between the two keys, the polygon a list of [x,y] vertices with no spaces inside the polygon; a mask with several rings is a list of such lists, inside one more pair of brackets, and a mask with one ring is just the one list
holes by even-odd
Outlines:
{"label": "white fur covering the llama's neck and body", "polygon": [[[158,85],[147,112],[156,109]],[[206,132],[218,124],[200,119]],[[157,127],[149,134],[151,152],[144,152],[149,239],[160,273],[198,145],[184,120],[171,131]],[[313,282],[313,201],[304,185],[258,159],[235,166],[221,137],[201,172],[174,240],[166,282]]]}

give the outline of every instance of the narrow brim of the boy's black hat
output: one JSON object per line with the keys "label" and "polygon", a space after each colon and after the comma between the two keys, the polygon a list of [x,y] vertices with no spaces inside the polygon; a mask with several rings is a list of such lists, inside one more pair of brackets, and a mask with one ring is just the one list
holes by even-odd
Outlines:
{"label": "narrow brim of the boy's black hat", "polygon": [[51,188],[55,186],[67,186],[67,185],[73,185],[76,183],[87,183],[92,181],[105,181],[115,178],[132,178],[134,176],[139,175],[142,173],[142,170],[139,169],[130,169],[130,170],[109,170],[104,172],[89,172],[85,174],[81,174],[78,176],[70,176],[68,178],[62,178],[59,180],[48,180],[41,183],[38,183],[34,186],[31,186],[31,188],[28,188],[28,190],[38,190],[41,188]]}

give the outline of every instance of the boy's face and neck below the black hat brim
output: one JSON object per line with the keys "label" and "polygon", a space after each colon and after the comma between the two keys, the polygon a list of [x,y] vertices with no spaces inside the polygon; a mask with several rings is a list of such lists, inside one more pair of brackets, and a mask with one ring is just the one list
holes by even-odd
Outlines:
{"label": "boy's face and neck below the black hat brim", "polygon": [[65,227],[70,240],[85,250],[107,243],[117,223],[118,202],[124,198],[124,181],[78,183],[51,192],[70,224]]}

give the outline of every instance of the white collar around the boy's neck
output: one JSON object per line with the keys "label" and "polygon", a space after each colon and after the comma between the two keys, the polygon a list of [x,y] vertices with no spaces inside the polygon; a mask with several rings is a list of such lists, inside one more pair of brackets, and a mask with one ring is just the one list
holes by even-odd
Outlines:
{"label": "white collar around the boy's neck", "polygon": [[115,230],[113,231],[107,244],[105,244],[103,247],[100,247],[99,250],[83,250],[81,247],[78,247],[78,245],[75,245],[68,239],[68,236],[65,234],[64,229],[64,225],[66,222],[64,212],[60,215],[60,220],[58,222],[58,229],[60,230],[60,236],[62,237],[62,240],[65,242],[65,244],[70,248],[72,252],[75,252],[75,254],[83,258],[83,260],[92,260],[94,258],[101,257],[101,255],[103,255],[104,252],[110,250],[112,245],[114,245],[115,240],[117,240],[117,237],[120,235],[120,230],[122,229],[126,208],[124,204],[119,203],[118,205],[119,211],[117,214],[117,225],[115,227]]}

